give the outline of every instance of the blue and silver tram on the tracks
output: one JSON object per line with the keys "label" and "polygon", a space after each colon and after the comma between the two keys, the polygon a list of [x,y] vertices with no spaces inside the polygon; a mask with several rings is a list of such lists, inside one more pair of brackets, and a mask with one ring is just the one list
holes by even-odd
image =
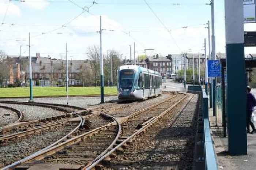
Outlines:
{"label": "blue and silver tram on the tracks", "polygon": [[121,66],[117,82],[118,99],[147,99],[162,94],[161,74],[137,65]]}

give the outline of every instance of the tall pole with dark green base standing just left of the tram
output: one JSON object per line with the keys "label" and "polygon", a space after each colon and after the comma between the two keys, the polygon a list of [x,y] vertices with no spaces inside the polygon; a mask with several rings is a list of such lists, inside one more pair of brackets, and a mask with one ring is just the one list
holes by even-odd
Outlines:
{"label": "tall pole with dark green base standing just left of the tram", "polygon": [[102,28],[101,28],[101,16],[99,16],[99,34],[100,34],[100,40],[101,40],[101,47],[100,47],[100,64],[101,64],[101,103],[104,103],[104,72],[103,72],[103,57],[102,57]]}

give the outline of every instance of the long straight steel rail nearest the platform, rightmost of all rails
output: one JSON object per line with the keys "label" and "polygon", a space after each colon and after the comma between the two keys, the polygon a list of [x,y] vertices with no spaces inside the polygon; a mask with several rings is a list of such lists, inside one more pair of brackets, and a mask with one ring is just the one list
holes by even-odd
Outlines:
{"label": "long straight steel rail nearest the platform, rightmost of all rails", "polygon": [[[169,107],[167,110],[165,110],[163,113],[159,114],[157,117],[155,117],[152,121],[148,122],[148,124],[144,125],[142,128],[140,128],[138,131],[136,131],[135,133],[133,133],[133,135],[129,136],[127,139],[125,139],[124,141],[122,141],[120,144],[118,144],[116,147],[114,147],[111,151],[109,151],[107,154],[105,154],[104,156],[102,156],[100,159],[98,159],[96,162],[94,162],[92,165],[90,165],[89,167],[86,167],[85,170],[91,170],[93,167],[95,167],[96,165],[98,165],[99,162],[101,162],[103,159],[107,158],[108,156],[110,156],[114,151],[116,151],[118,148],[120,148],[121,146],[123,146],[123,144],[125,144],[127,141],[131,141],[136,135],[139,135],[141,132],[143,132],[144,130],[148,129],[153,123],[155,123],[159,118],[163,117],[167,112],[169,112],[170,110],[173,109],[173,107],[177,106],[181,101],[183,101],[185,98],[187,97],[187,95],[185,95],[185,97],[183,97],[182,99],[180,99],[178,102],[176,102],[174,105],[172,105],[171,107]],[[166,100],[165,100],[166,101]],[[163,102],[162,102],[163,103]]]}

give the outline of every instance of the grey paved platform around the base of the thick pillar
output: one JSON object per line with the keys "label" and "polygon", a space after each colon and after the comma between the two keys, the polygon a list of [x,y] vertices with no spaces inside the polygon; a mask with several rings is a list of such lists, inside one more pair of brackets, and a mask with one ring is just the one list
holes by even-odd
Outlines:
{"label": "grey paved platform around the base of the thick pillar", "polygon": [[256,169],[256,133],[247,135],[247,155],[230,155],[227,150],[227,137],[223,137],[221,117],[218,118],[216,126],[212,109],[209,109],[212,138],[215,144],[219,170],[255,170]]}

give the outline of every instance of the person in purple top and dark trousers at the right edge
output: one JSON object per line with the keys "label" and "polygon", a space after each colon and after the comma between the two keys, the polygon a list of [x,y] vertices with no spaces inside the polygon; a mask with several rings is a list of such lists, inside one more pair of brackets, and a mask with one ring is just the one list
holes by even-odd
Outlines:
{"label": "person in purple top and dark trousers at the right edge", "polygon": [[247,101],[246,101],[246,126],[247,126],[247,133],[250,133],[250,125],[252,126],[252,132],[255,133],[256,129],[254,126],[254,122],[252,121],[252,113],[254,111],[254,106],[256,105],[256,99],[255,96],[251,93],[251,87],[246,87],[246,95],[247,95]]}

